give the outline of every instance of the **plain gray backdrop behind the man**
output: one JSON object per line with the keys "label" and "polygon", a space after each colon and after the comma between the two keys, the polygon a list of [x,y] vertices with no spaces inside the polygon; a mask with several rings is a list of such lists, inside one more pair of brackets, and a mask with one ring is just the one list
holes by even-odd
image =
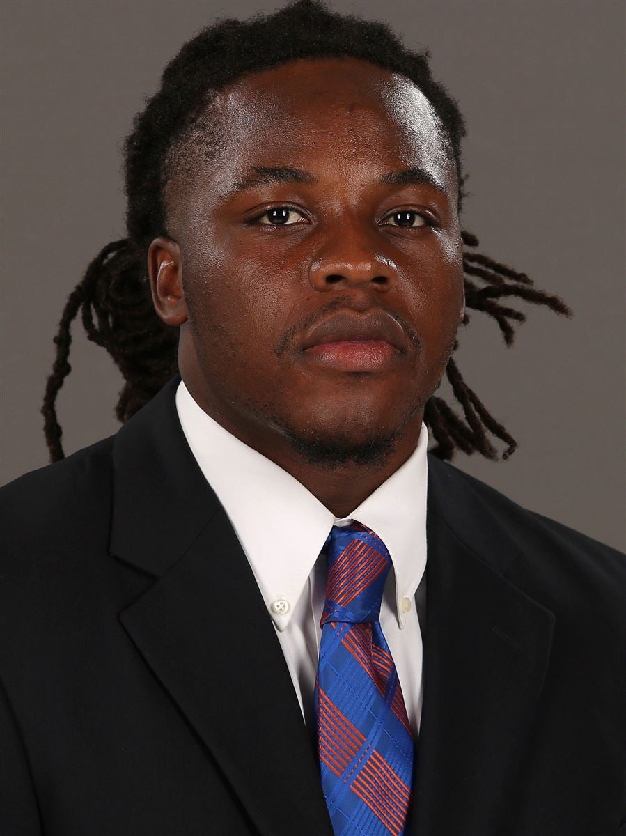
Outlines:
{"label": "plain gray backdrop behind the man", "polygon": [[[198,28],[281,5],[4,0],[3,482],[48,461],[39,410],[53,334],[89,260],[124,237],[120,143],[143,97]],[[574,310],[565,319],[515,302],[529,319],[511,349],[484,314],[461,329],[461,372],[520,447],[509,461],[459,453],[454,463],[623,549],[623,3],[330,5],[430,48],[468,125],[463,226],[480,252]],[[66,454],[119,428],[121,387],[79,324],[70,362],[58,401]]]}

